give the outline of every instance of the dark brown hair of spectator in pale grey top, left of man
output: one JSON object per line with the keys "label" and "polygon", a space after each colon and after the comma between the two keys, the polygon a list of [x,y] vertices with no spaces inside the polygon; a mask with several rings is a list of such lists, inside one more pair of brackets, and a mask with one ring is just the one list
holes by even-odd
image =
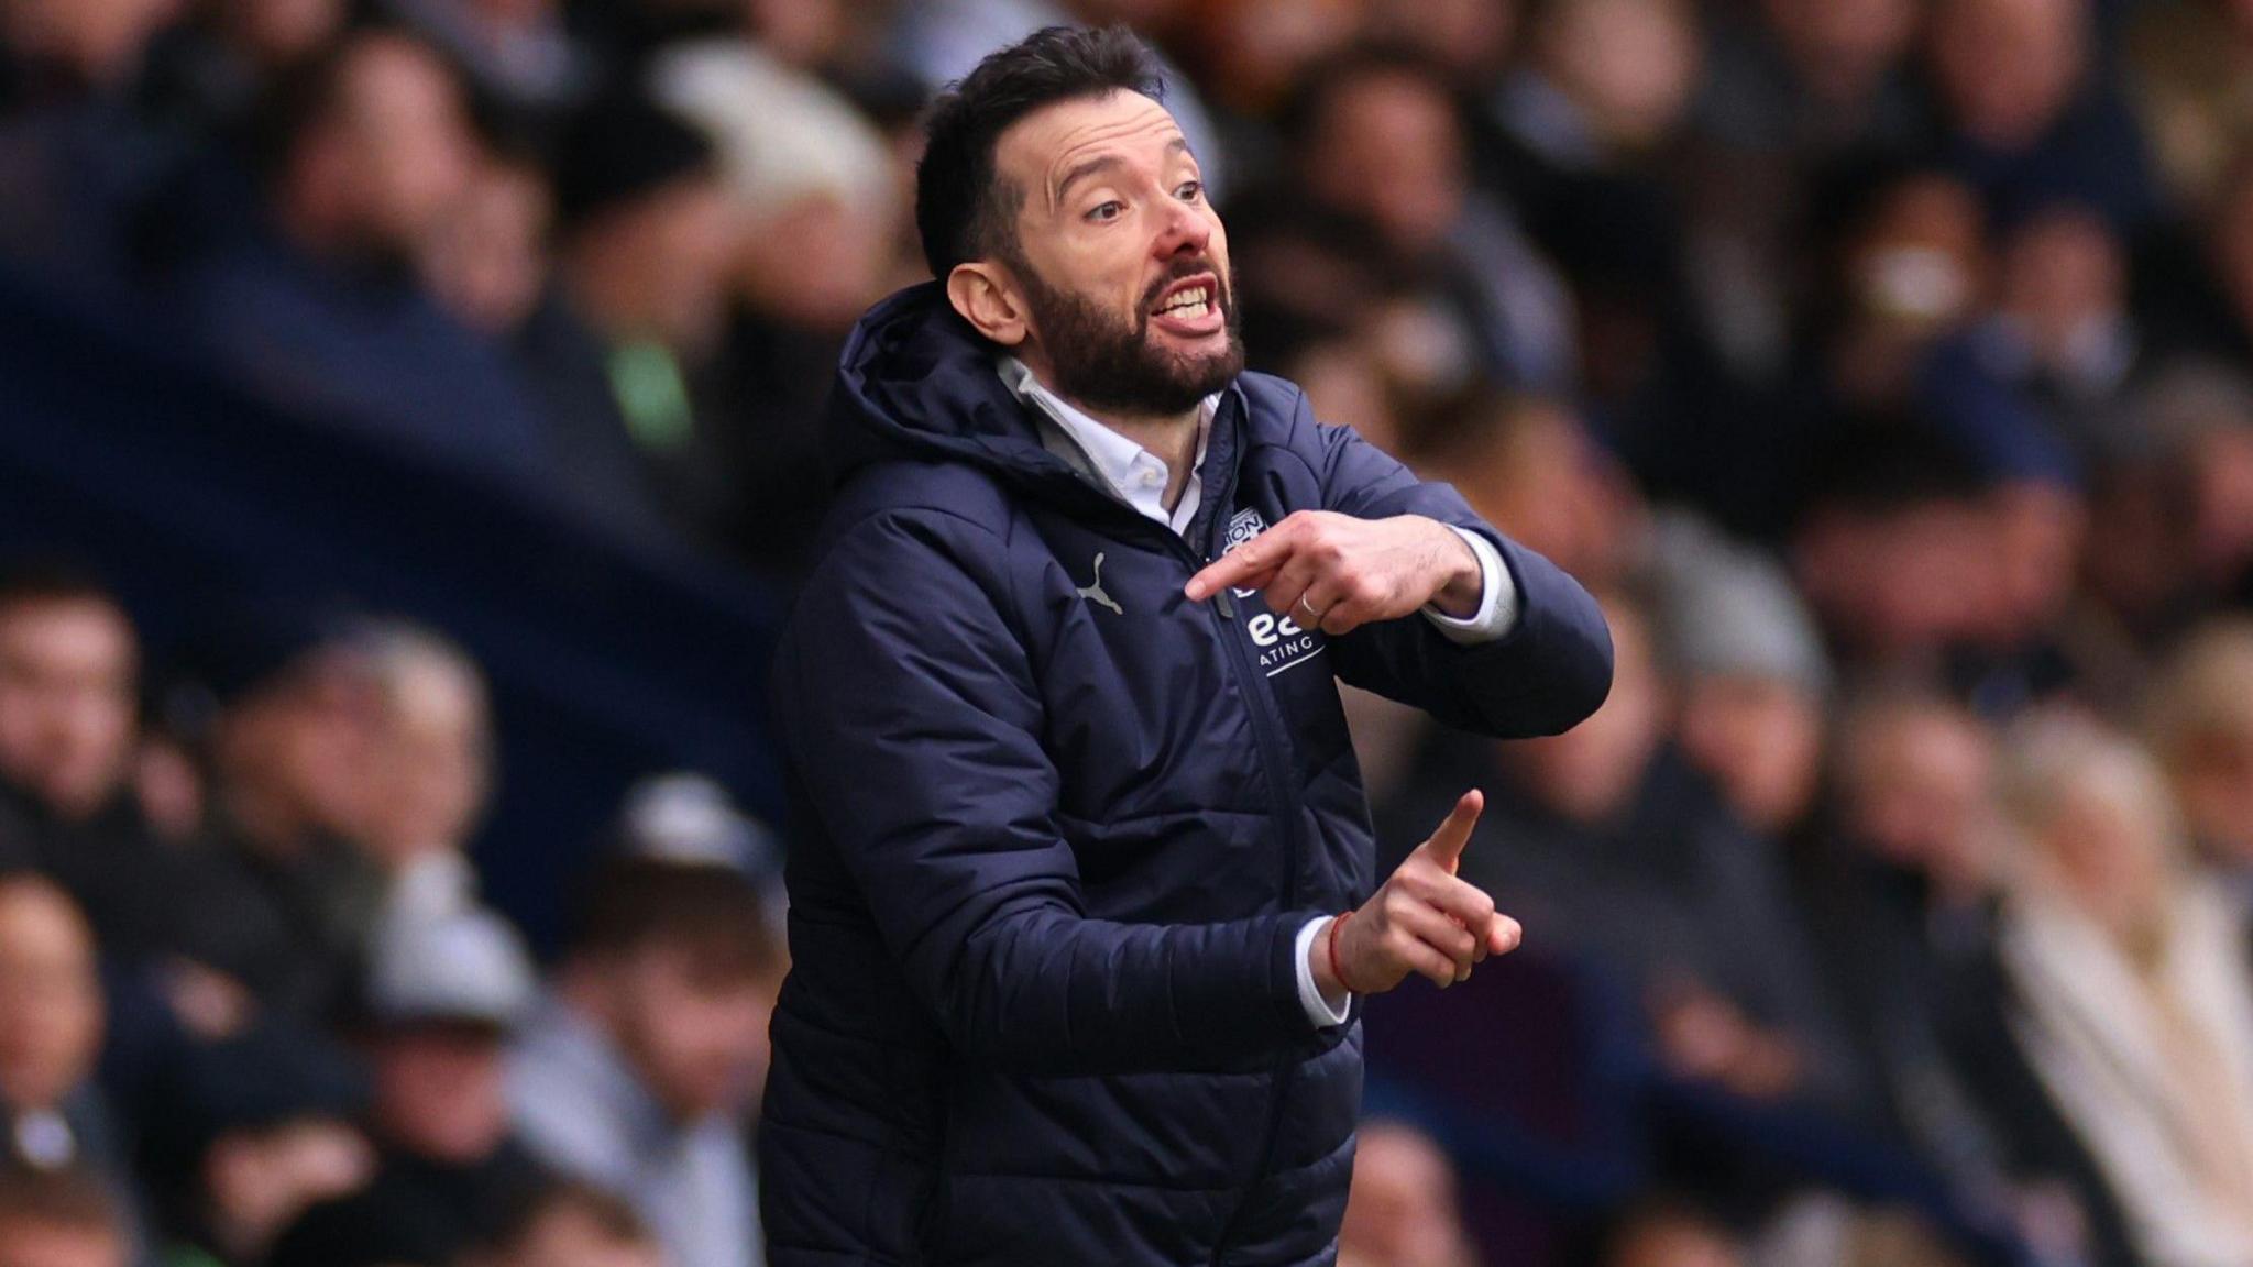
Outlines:
{"label": "dark brown hair of spectator in pale grey top, left of man", "polygon": [[615,960],[678,949],[705,983],[757,981],[782,967],[759,888],[732,866],[615,859],[588,877],[570,954]]}

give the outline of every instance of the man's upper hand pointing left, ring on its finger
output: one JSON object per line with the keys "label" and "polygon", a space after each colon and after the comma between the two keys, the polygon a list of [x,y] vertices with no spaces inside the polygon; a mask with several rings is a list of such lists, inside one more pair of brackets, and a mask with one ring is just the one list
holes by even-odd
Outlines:
{"label": "man's upper hand pointing left, ring on its finger", "polygon": [[1221,586],[1257,588],[1268,611],[1336,636],[1426,604],[1467,620],[1482,577],[1478,555],[1437,519],[1300,510],[1190,577],[1185,593],[1203,602]]}

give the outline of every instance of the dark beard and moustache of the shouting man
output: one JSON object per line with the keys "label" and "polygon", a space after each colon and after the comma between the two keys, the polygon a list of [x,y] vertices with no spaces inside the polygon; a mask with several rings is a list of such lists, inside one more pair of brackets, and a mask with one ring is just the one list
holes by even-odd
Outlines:
{"label": "dark beard and moustache of the shouting man", "polygon": [[[1181,262],[1149,284],[1133,320],[1104,311],[1088,295],[1050,286],[1030,262],[1014,262],[1025,286],[1032,327],[1048,349],[1054,390],[1068,401],[1099,413],[1169,417],[1190,413],[1244,372],[1244,329],[1237,313],[1235,277],[1210,259]],[[1228,343],[1221,352],[1183,354],[1151,343],[1149,309],[1183,277],[1212,273]]]}

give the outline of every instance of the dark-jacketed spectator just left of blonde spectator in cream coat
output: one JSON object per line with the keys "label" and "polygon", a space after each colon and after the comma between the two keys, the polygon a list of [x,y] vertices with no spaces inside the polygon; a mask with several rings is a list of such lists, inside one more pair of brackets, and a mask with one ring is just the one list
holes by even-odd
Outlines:
{"label": "dark-jacketed spectator just left of blonde spectator in cream coat", "polygon": [[1994,735],[1967,710],[1917,692],[1856,701],[1834,834],[1811,843],[1800,893],[1884,1116],[1962,1217],[2043,1260],[2127,1260],[2118,1208],[2003,1019],[1992,776]]}

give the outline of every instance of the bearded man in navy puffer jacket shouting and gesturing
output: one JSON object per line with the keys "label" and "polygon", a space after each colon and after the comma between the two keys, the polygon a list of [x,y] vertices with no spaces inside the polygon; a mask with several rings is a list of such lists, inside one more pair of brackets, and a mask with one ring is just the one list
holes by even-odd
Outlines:
{"label": "bearded man in navy puffer jacket shouting and gesturing", "polygon": [[1241,372],[1154,92],[1122,32],[980,63],[917,174],[940,282],[845,349],[775,665],[775,1267],[1327,1260],[1350,994],[1516,942],[1451,875],[1476,794],[1368,897],[1334,681],[1494,735],[1609,685],[1577,584]]}

